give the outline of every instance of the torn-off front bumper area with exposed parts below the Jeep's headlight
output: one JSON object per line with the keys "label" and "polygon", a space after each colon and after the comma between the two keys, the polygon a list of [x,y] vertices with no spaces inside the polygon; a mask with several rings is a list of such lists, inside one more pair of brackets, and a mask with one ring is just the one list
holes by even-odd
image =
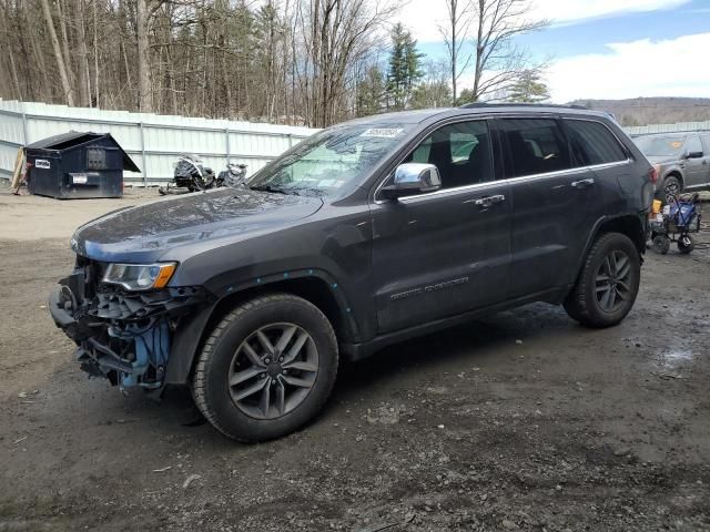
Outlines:
{"label": "torn-off front bumper area with exposed parts below the Jeep's headlight", "polygon": [[57,324],[78,346],[90,376],[122,389],[160,389],[181,319],[211,300],[201,287],[131,293],[92,282],[91,267],[61,279],[50,295]]}

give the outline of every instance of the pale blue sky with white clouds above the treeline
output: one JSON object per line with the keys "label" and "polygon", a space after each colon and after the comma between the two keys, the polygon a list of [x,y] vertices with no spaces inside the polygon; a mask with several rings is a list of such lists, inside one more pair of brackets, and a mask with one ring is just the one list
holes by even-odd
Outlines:
{"label": "pale blue sky with white clouds above the treeline", "polygon": [[[638,96],[710,98],[710,0],[531,0],[550,25],[517,44],[551,60],[555,103]],[[409,0],[398,20],[430,59],[446,58],[445,0]],[[464,73],[459,86],[470,86]]]}

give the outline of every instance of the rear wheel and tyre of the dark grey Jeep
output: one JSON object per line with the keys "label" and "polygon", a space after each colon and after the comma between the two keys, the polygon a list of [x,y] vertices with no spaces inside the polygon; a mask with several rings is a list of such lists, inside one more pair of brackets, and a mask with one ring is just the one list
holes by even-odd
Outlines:
{"label": "rear wheel and tyre of the dark grey Jeep", "polygon": [[641,260],[631,239],[620,233],[602,234],[587,254],[565,310],[586,327],[615,326],[633,307],[640,278]]}

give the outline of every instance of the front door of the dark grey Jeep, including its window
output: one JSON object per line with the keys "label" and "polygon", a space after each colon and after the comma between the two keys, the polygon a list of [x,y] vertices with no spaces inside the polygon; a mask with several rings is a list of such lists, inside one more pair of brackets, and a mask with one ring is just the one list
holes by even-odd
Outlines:
{"label": "front door of the dark grey Jeep, including its window", "polygon": [[403,162],[435,164],[442,190],[375,196],[373,277],[378,332],[503,299],[510,260],[508,185],[494,181],[485,120],[442,126]]}

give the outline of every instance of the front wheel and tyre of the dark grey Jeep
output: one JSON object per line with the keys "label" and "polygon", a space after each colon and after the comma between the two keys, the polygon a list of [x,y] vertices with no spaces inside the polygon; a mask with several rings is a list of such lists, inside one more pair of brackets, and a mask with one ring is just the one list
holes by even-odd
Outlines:
{"label": "front wheel and tyre of the dark grey Jeep", "polygon": [[226,437],[271,440],[318,413],[337,367],[335,332],[323,313],[303,298],[274,294],[239,305],[212,330],[192,392]]}

